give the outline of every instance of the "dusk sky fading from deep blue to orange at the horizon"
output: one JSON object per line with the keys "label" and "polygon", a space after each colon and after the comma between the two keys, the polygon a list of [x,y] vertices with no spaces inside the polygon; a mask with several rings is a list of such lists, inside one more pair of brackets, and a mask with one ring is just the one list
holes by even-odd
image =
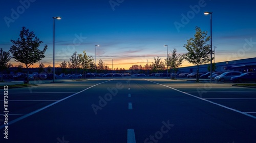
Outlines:
{"label": "dusk sky fading from deep blue to orange at the horizon", "polygon": [[[253,58],[256,55],[256,2],[221,0],[10,0],[1,1],[0,47],[9,51],[22,27],[33,31],[48,50],[40,60],[53,66],[53,18],[55,19],[55,67],[69,61],[74,52],[102,59],[110,68],[129,69],[166,58],[174,48],[185,54],[184,44],[195,27],[210,36],[216,62]],[[168,45],[167,47],[164,46]],[[216,49],[215,49],[216,47]],[[19,64],[14,59],[13,65]],[[39,62],[32,65],[38,67]],[[191,64],[184,61],[182,67]]]}

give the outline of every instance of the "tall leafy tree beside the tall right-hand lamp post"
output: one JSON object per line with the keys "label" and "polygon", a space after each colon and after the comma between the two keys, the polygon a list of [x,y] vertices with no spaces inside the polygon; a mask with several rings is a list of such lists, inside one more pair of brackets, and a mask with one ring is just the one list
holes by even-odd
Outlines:
{"label": "tall leafy tree beside the tall right-hand lamp post", "polygon": [[199,82],[199,65],[208,63],[210,59],[210,45],[206,44],[210,37],[206,37],[207,32],[202,32],[199,27],[196,27],[195,38],[187,40],[187,44],[184,47],[188,53],[185,54],[185,59],[192,64],[197,65],[197,82]]}

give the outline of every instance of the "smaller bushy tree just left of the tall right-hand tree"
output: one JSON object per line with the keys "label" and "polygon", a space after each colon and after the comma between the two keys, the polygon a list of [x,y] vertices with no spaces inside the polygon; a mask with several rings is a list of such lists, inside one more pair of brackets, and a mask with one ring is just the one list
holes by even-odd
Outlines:
{"label": "smaller bushy tree just left of the tall right-hand tree", "polygon": [[182,65],[184,56],[179,54],[177,55],[177,49],[174,48],[174,50],[170,50],[170,54],[168,55],[167,65],[172,68],[175,72],[177,71],[177,68]]}

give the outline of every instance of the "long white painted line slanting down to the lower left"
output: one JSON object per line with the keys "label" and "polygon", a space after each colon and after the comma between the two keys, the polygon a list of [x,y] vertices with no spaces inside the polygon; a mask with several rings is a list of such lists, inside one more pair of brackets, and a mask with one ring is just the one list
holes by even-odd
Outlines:
{"label": "long white painted line slanting down to the lower left", "polygon": [[[71,97],[75,96],[76,94],[79,94],[79,93],[81,93],[81,92],[83,92],[83,91],[86,91],[86,90],[88,90],[88,89],[90,89],[90,88],[92,88],[92,87],[94,87],[94,86],[97,86],[97,85],[100,85],[100,84],[102,84],[102,83],[109,82],[109,81],[112,81],[112,80],[114,80],[114,79],[111,79],[111,80],[108,80],[108,81],[104,81],[104,82],[95,84],[95,85],[90,86],[90,87],[88,87],[88,88],[86,88],[86,89],[83,89],[83,90],[81,90],[81,91],[79,91],[79,92],[76,92],[76,93],[72,94],[71,96],[68,96],[68,97],[63,98],[63,99],[61,99],[61,100],[58,100],[58,101],[56,101],[56,102],[54,102],[54,103],[52,103],[52,104],[49,104],[49,105],[47,105],[47,106],[45,106],[45,107],[42,107],[42,108],[37,109],[37,110],[35,110],[35,111],[33,111],[33,112],[30,112],[30,113],[28,113],[28,114],[26,114],[26,115],[23,115],[23,116],[21,116],[21,117],[18,117],[18,118],[16,118],[15,120],[10,121],[10,122],[8,123],[8,125],[11,125],[11,124],[16,123],[16,122],[18,122],[18,121],[20,121],[20,120],[23,120],[23,119],[26,118],[26,117],[29,117],[29,116],[31,116],[31,115],[33,115],[33,114],[35,114],[35,113],[37,113],[37,112],[40,112],[40,111],[42,111],[42,110],[44,110],[44,109],[46,109],[46,108],[48,108],[48,107],[51,107],[51,106],[53,106],[53,105],[55,105],[55,104],[57,104],[57,103],[59,103],[59,102],[61,102],[61,101],[63,101],[63,100],[66,100],[66,99],[68,99],[68,98],[71,98]],[[2,129],[2,128],[5,128],[5,125],[1,125],[1,126],[0,126],[0,129]]]}

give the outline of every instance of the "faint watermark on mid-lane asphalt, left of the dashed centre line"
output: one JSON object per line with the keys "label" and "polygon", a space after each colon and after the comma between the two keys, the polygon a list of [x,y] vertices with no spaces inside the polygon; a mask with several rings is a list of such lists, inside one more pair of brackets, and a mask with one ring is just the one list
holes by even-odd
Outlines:
{"label": "faint watermark on mid-lane asphalt, left of the dashed centre line", "polygon": [[102,108],[105,107],[108,104],[108,102],[110,102],[113,99],[113,97],[115,97],[117,95],[118,90],[121,90],[123,88],[124,88],[124,86],[121,82],[117,82],[115,87],[106,88],[109,91],[109,93],[106,93],[104,95],[104,98],[99,96],[98,105],[96,105],[96,104],[91,105],[95,115],[98,114],[98,110],[102,110]]}

